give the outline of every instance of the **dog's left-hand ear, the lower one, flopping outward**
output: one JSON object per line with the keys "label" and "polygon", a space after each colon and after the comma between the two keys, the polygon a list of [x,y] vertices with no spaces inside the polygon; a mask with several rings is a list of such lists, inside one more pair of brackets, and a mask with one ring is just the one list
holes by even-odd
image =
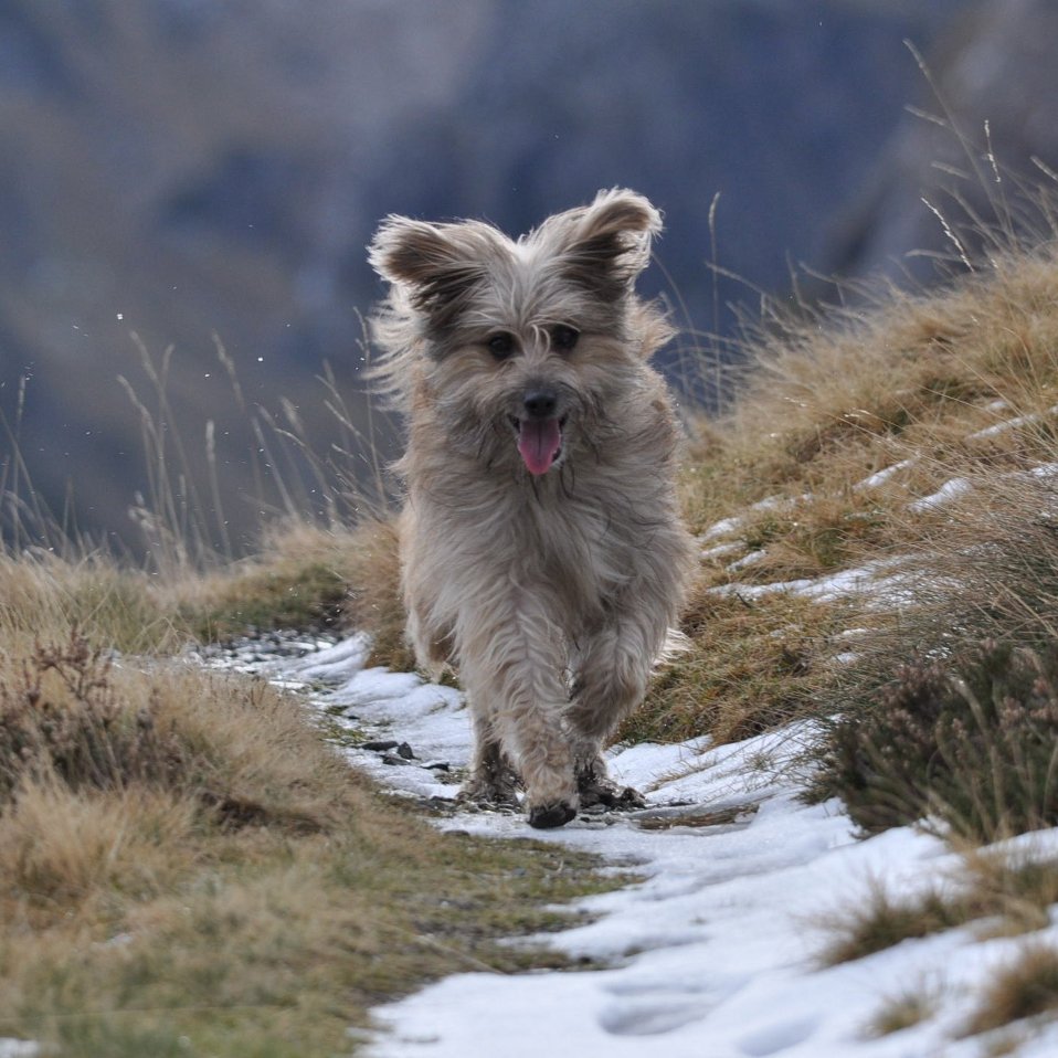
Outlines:
{"label": "dog's left-hand ear, the lower one, flopping outward", "polygon": [[368,260],[383,279],[406,287],[412,305],[443,327],[485,278],[486,229],[391,215],[375,232]]}

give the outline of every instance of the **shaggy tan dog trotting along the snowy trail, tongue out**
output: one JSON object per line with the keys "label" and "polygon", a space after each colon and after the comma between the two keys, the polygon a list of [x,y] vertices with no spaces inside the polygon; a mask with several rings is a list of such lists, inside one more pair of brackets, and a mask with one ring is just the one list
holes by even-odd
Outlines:
{"label": "shaggy tan dog trotting along the snowy trail, tongue out", "polygon": [[692,565],[681,429],[650,355],[673,332],[634,289],[658,211],[600,191],[517,241],[391,215],[372,378],[404,414],[396,473],[408,637],[451,664],[475,749],[462,796],[533,827],[639,803],[602,750],[643,700]]}

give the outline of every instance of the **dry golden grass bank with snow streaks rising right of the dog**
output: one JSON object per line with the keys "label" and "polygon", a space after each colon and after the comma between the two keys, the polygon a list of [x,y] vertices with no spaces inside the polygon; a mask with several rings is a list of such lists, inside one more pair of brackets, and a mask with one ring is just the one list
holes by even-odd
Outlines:
{"label": "dry golden grass bank with snow streaks rising right of the dog", "polygon": [[[917,650],[1030,625],[1045,633],[1058,533],[1040,512],[1055,489],[1026,473],[1058,461],[1058,256],[996,254],[939,292],[854,300],[751,341],[731,409],[691,445],[681,480],[691,527],[733,523],[703,540],[713,552],[702,569],[709,601],[705,612],[692,603],[691,650],[628,727],[637,737],[739,737],[813,701],[834,713]],[[953,478],[967,484],[961,497],[916,506]],[[732,614],[732,596],[709,597],[878,560],[900,563],[899,607],[864,593],[838,615],[796,596],[747,595]],[[776,614],[791,606],[801,610],[792,623],[810,647],[807,671],[783,668],[805,653],[789,649]],[[850,648],[836,637],[842,621],[867,633],[857,664],[836,678],[828,655]],[[791,697],[802,706],[791,709]]]}

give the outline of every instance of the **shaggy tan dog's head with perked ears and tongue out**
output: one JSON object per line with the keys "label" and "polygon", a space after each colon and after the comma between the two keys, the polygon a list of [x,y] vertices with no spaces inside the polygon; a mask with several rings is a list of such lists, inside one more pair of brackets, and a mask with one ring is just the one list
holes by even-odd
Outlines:
{"label": "shaggy tan dog's head with perked ears and tongue out", "polygon": [[388,218],[370,247],[391,284],[374,321],[377,377],[489,463],[520,456],[540,476],[578,445],[597,447],[669,337],[634,293],[660,229],[658,211],[623,190],[517,242],[477,221]]}

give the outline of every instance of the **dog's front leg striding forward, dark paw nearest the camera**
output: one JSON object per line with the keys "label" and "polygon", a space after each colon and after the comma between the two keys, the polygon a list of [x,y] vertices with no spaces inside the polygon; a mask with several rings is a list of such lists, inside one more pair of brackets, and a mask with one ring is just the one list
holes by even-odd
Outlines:
{"label": "dog's front leg striding forward, dark paw nearest the camera", "polygon": [[[475,728],[495,732],[515,761],[530,825],[569,823],[578,807],[573,757],[563,730],[569,698],[562,637],[547,607],[525,592],[466,607],[458,639],[459,676],[479,718]],[[488,751],[479,747],[478,758]]]}

